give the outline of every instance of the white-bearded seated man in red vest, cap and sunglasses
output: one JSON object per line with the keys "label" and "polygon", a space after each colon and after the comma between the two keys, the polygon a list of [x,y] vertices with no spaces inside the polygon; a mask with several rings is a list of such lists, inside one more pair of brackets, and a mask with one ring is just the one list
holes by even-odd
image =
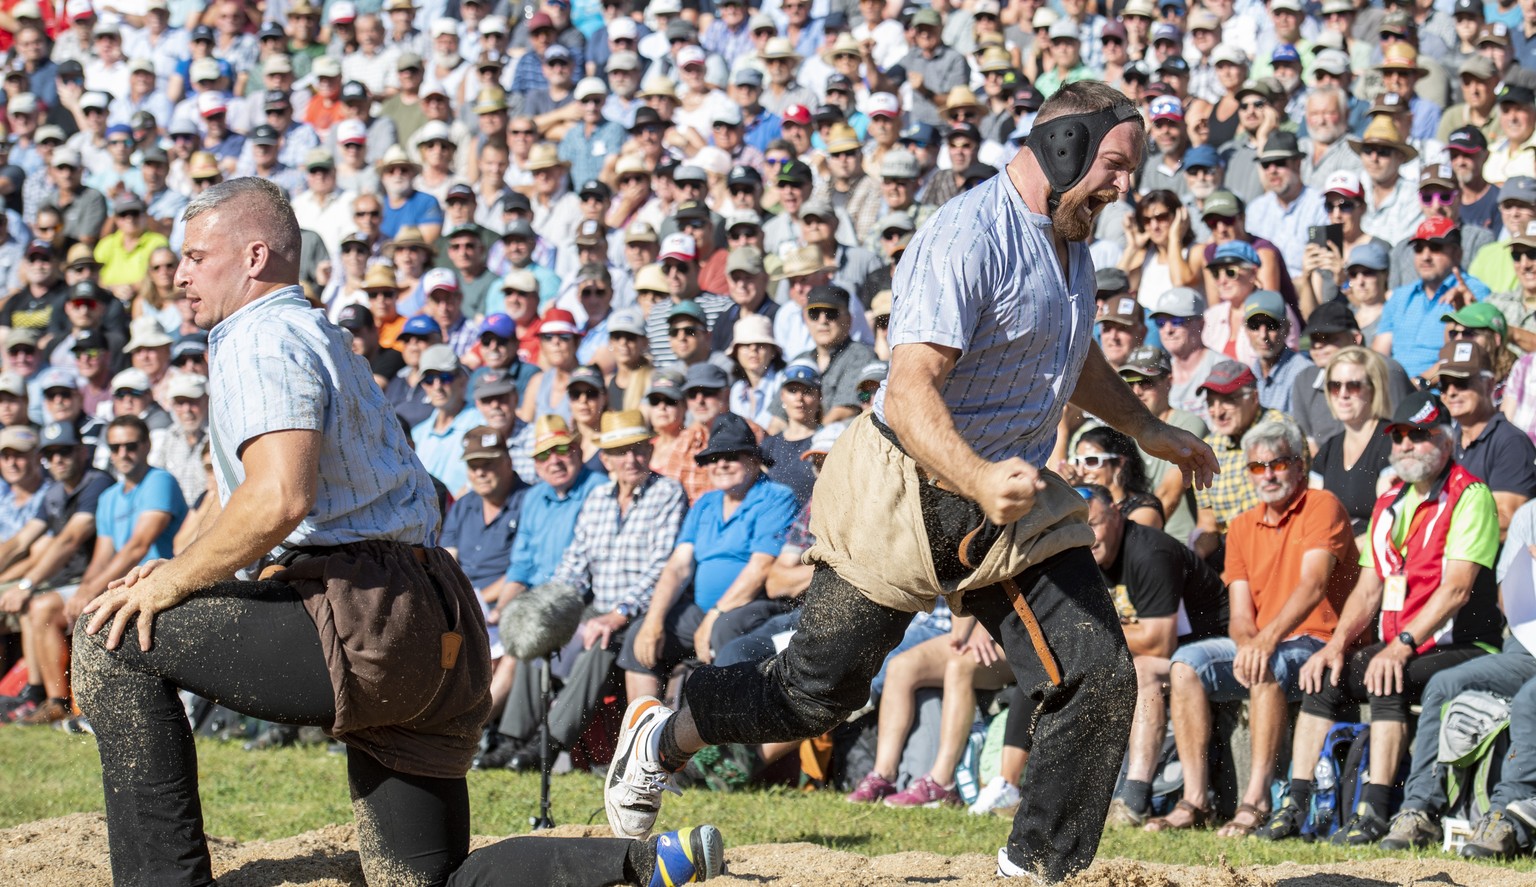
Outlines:
{"label": "white-bearded seated man in red vest, cap and sunglasses", "polygon": [[[1452,364],[1456,372],[1476,372],[1461,360]],[[1290,798],[1261,832],[1264,838],[1299,835],[1315,787],[1312,761],[1333,724],[1349,716],[1346,709],[1370,703],[1369,784],[1333,842],[1382,839],[1409,752],[1409,707],[1436,673],[1498,649],[1504,623],[1493,573],[1498,513],[1487,484],[1453,458],[1452,415],[1433,392],[1416,392],[1392,417],[1398,483],[1376,501],[1369,546],[1359,553],[1359,581],[1332,640],[1301,667],[1306,698],[1292,741]],[[1530,449],[1525,435],[1511,434]],[[1424,520],[1428,513],[1438,518]],[[1369,646],[1353,649],[1364,640]],[[1438,736],[1425,733],[1416,752],[1433,756]]]}

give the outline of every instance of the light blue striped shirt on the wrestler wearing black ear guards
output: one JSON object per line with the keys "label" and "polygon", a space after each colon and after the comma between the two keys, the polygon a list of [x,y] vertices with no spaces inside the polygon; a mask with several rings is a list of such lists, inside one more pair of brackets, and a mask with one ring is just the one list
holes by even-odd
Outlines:
{"label": "light blue striped shirt on the wrestler wearing black ear guards", "polygon": [[940,394],[960,440],[988,461],[1046,463],[1094,341],[1094,260],[1069,244],[1063,280],[1051,231],[1005,172],[945,203],[895,269],[891,347],[960,350]]}

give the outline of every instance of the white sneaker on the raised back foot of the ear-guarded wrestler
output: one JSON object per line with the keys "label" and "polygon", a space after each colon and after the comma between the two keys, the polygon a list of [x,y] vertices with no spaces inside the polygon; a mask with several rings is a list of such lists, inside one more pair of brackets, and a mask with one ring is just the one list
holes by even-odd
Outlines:
{"label": "white sneaker on the raised back foot of the ear-guarded wrestler", "polygon": [[656,750],[660,727],[671,715],[673,710],[654,696],[639,698],[624,712],[624,730],[602,793],[608,827],[619,838],[648,838],[662,810],[662,792],[682,795]]}

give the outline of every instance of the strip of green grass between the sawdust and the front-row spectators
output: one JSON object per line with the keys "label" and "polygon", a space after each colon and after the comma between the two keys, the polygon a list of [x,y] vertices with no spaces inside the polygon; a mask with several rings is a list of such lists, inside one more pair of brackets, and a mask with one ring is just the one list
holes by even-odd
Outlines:
{"label": "strip of green grass between the sawdust and the front-row spectators", "polygon": [[[241,841],[284,838],[330,822],[350,821],[346,764],[321,749],[244,752],[233,742],[200,742],[203,809],[209,835]],[[0,827],[101,809],[101,775],[95,742],[57,730],[0,729]],[[588,775],[553,781],[558,824],[599,824],[602,782]],[[511,835],[528,830],[538,812],[536,775],[470,773],[473,832]],[[863,855],[931,850],[945,855],[995,853],[1008,822],[955,810],[852,807],[831,792],[793,790],[668,796],[660,827],[714,822],[733,845],[809,841]],[[1233,865],[1335,862],[1385,856],[1375,850],[1223,839],[1212,833],[1144,835],[1112,832],[1101,856],[1149,862]],[[1432,856],[1439,856],[1438,853]],[[1536,861],[1508,869],[1536,872]]]}

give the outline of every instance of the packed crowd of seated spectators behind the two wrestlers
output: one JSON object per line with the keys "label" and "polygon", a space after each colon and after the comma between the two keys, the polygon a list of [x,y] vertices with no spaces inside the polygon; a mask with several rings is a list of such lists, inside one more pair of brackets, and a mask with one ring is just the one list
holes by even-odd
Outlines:
{"label": "packed crowd of seated spectators behind the two wrestlers", "polygon": [[[782,649],[892,292],[935,284],[903,249],[951,197],[1011,189],[1041,103],[1089,78],[1147,132],[1095,223],[1094,335],[1223,467],[1195,490],[1061,417],[1049,467],[1084,498],[1140,676],[1111,826],[1210,822],[1212,704],[1246,701],[1223,833],[1296,835],[1309,759],[1367,701],[1410,792],[1393,810],[1373,766],[1336,839],[1438,841],[1428,698],[1536,675],[1514,641],[1465,672],[1504,643],[1496,566],[1536,543],[1533,0],[0,0],[0,61],[9,721],[71,718],[71,620],[197,538],[233,480],[175,284],[209,184],[292,195],[304,292],[410,429],[485,607],[478,766],[525,769],[539,681],[498,630],[530,589],[588,603],[554,663],[556,749],[616,686]],[[849,799],[958,804],[978,693],[1005,690],[971,809],[1017,806],[1031,701],[1001,656],[942,603],[915,620]],[[925,689],[937,752],[903,773]],[[1183,798],[1155,810],[1169,732]],[[750,775],[794,749],[702,759]],[[1528,850],[1530,796],[1501,795],[1467,852]]]}

